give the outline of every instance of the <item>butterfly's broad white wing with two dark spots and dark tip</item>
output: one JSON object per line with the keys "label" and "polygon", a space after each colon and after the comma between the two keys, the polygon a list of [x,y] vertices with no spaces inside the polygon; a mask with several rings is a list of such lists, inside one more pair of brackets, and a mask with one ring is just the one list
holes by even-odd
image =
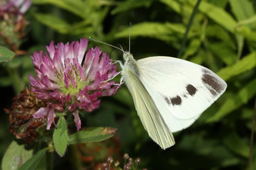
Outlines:
{"label": "butterfly's broad white wing with two dark spots and dark tip", "polygon": [[211,70],[186,60],[148,57],[137,63],[141,83],[172,132],[193,124],[227,87]]}

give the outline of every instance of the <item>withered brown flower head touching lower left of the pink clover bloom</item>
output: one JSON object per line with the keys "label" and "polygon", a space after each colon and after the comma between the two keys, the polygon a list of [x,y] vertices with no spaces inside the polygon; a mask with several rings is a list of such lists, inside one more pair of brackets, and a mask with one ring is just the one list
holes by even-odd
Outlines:
{"label": "withered brown flower head touching lower left of the pink clover bloom", "polygon": [[23,139],[26,143],[36,139],[38,130],[45,125],[45,120],[35,119],[33,114],[44,106],[45,104],[36,99],[35,93],[28,88],[13,98],[12,107],[5,111],[9,113],[10,131],[17,139]]}

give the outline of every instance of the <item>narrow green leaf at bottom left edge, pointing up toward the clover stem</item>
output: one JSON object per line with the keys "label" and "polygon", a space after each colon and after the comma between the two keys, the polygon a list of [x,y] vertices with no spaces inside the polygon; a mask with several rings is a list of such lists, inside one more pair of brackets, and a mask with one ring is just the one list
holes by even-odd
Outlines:
{"label": "narrow green leaf at bottom left edge, pointing up toward the clover stem", "polygon": [[40,162],[40,160],[42,159],[42,157],[44,157],[45,153],[46,153],[46,148],[40,150],[35,155],[33,155],[33,157],[31,157],[31,159],[29,159],[27,162],[25,162],[25,164],[23,164],[19,168],[19,170],[34,170],[36,168],[36,166],[38,165],[38,163]]}

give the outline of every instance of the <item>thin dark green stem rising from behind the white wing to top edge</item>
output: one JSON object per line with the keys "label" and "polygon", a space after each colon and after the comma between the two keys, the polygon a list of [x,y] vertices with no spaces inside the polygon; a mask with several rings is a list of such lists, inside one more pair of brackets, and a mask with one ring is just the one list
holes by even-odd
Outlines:
{"label": "thin dark green stem rising from behind the white wing to top edge", "polygon": [[199,4],[201,3],[202,0],[198,0],[196,5],[195,5],[195,8],[193,9],[193,13],[191,14],[190,18],[189,18],[189,23],[188,23],[188,27],[186,29],[186,32],[184,34],[184,37],[182,39],[182,44],[181,44],[181,47],[180,47],[180,50],[179,50],[179,54],[178,54],[178,58],[181,58],[182,57],[182,53],[184,51],[184,48],[186,46],[186,41],[187,41],[187,37],[188,37],[188,32],[191,28],[191,25],[193,23],[193,20],[195,18],[195,15],[196,15],[196,11],[198,10],[198,7],[199,7]]}

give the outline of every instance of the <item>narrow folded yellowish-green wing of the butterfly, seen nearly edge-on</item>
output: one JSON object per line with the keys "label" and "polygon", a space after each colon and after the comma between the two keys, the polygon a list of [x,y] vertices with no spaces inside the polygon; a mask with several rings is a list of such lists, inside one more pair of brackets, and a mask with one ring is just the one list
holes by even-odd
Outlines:
{"label": "narrow folded yellowish-green wing of the butterfly, seen nearly edge-on", "polygon": [[134,100],[138,116],[149,136],[163,149],[174,145],[172,132],[138,76],[132,70],[125,71],[123,76]]}

